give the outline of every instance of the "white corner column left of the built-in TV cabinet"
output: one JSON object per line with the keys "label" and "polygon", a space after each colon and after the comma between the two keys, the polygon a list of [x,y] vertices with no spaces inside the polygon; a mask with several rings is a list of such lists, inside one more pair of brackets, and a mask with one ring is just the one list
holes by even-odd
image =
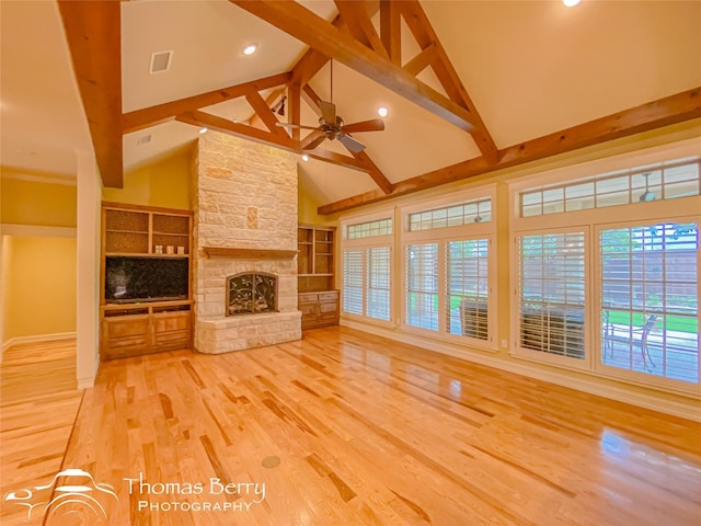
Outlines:
{"label": "white corner column left of the built-in TV cabinet", "polygon": [[93,152],[78,157],[77,362],[78,388],[95,384],[100,364],[100,201],[102,183]]}

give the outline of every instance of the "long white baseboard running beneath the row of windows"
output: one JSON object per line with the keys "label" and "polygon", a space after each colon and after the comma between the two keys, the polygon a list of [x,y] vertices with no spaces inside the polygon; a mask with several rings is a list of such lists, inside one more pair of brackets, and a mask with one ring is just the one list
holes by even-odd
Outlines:
{"label": "long white baseboard running beneath the row of windows", "polygon": [[587,378],[577,378],[570,375],[563,375],[558,369],[533,367],[532,365],[529,365],[527,363],[499,359],[495,358],[494,356],[473,353],[468,350],[457,351],[450,345],[441,342],[433,340],[427,341],[414,334],[393,332],[389,329],[384,329],[378,325],[359,323],[352,320],[342,320],[341,324],[349,329],[356,329],[358,331],[368,332],[377,336],[382,336],[389,340],[394,340],[397,342],[425,348],[426,351],[434,351],[456,358],[474,362],[475,364],[485,365],[487,367],[493,367],[495,369],[506,370],[516,375],[527,376],[537,380],[548,381],[558,386],[576,389],[589,395],[608,398],[618,402],[630,403],[640,408],[659,411],[660,413],[669,414],[673,416],[679,416],[681,419],[701,422],[701,411],[699,411],[699,402],[697,400],[689,399],[688,403],[675,400],[665,400],[656,397],[654,393],[647,395],[642,392],[633,392],[629,389],[625,389],[624,387],[605,386]]}

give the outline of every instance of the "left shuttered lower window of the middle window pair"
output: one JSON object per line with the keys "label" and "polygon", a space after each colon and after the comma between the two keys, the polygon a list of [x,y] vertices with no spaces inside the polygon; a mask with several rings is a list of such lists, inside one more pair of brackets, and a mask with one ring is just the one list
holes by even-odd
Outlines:
{"label": "left shuttered lower window of the middle window pair", "polygon": [[438,243],[410,244],[406,262],[406,324],[438,330]]}

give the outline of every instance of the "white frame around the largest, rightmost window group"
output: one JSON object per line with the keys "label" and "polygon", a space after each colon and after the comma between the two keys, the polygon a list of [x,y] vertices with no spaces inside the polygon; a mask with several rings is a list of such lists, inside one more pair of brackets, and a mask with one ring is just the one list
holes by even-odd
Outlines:
{"label": "white frame around the largest, rightmost window group", "polygon": [[[518,264],[510,265],[509,276],[509,294],[510,301],[510,345],[509,354],[514,357],[538,362],[541,364],[554,365],[561,368],[577,370],[584,374],[594,375],[602,378],[609,378],[627,384],[637,385],[645,388],[659,389],[668,392],[677,392],[683,396],[693,396],[701,398],[701,378],[698,384],[685,382],[668,378],[658,378],[655,375],[644,373],[628,371],[616,367],[600,366],[600,348],[601,327],[599,322],[599,312],[601,310],[601,298],[599,293],[600,273],[600,254],[598,240],[600,231],[616,228],[618,225],[635,225],[640,226],[645,222],[665,221],[665,222],[697,222],[701,226],[701,196],[685,196],[667,201],[653,202],[634,202],[619,206],[609,206],[602,208],[590,208],[584,210],[562,211],[558,214],[544,214],[539,216],[521,217],[520,215],[520,194],[527,190],[545,187],[555,183],[567,181],[575,182],[583,178],[605,174],[609,172],[633,169],[646,164],[655,164],[659,162],[674,163],[679,159],[688,159],[692,157],[701,157],[701,138],[691,138],[679,141],[674,145],[663,145],[645,150],[632,151],[614,157],[598,159],[576,165],[559,168],[540,174],[524,175],[508,183],[509,199],[509,232],[510,232],[510,261],[518,261],[519,235],[525,233],[544,233],[552,230],[565,229],[587,229],[587,238],[585,241],[585,265],[586,270],[586,305],[585,323],[588,328],[585,332],[585,353],[588,355],[588,367],[576,367],[574,364],[558,359],[543,359],[543,356],[531,355],[530,353],[521,353],[516,351],[518,347],[518,311],[520,301],[518,300]],[[558,229],[553,229],[552,225],[556,224]],[[701,249],[700,249],[701,250]],[[701,256],[699,261],[701,276]],[[701,291],[701,289],[700,289]],[[700,313],[701,323],[701,313]],[[537,354],[545,354],[533,351]]]}

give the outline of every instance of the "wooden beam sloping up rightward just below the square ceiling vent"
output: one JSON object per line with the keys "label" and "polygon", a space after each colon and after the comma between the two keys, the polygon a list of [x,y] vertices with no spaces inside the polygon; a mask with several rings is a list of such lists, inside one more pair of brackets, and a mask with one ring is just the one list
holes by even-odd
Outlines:
{"label": "wooden beam sloping up rightward just below the square ceiling vent", "polygon": [[[73,2],[66,0],[66,3]],[[102,4],[103,2],[97,3]],[[220,102],[230,101],[231,99],[244,96],[252,91],[261,92],[271,88],[277,88],[278,85],[287,84],[290,77],[291,73],[289,72],[274,75],[272,77],[265,77],[251,82],[230,85],[229,88],[223,88],[221,90],[214,90],[207,93],[200,93],[199,95],[187,96],[177,101],[165,102],[156,106],[128,112],[122,115],[122,133],[126,135],[131,132],[138,132],[139,129],[156,126],[157,124],[168,123],[169,121],[175,119],[177,115],[183,113],[193,112],[202,107],[211,106]]]}

